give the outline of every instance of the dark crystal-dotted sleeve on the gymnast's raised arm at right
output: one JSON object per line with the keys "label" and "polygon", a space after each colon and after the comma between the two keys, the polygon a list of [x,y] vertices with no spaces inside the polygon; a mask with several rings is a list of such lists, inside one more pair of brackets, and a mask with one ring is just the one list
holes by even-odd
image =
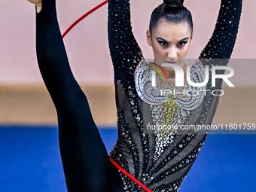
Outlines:
{"label": "dark crystal-dotted sleeve on the gymnast's raised arm at right", "polygon": [[221,0],[214,32],[200,59],[230,59],[236,42],[242,0]]}

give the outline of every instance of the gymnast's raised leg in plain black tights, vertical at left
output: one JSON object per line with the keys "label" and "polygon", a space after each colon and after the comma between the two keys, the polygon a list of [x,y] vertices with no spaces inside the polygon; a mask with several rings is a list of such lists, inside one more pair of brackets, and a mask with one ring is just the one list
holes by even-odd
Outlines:
{"label": "gymnast's raised leg in plain black tights, vertical at left", "polygon": [[36,50],[44,84],[56,107],[68,191],[123,191],[120,175],[108,160],[87,98],[72,75],[59,31],[55,0],[42,0],[41,11],[36,14]]}

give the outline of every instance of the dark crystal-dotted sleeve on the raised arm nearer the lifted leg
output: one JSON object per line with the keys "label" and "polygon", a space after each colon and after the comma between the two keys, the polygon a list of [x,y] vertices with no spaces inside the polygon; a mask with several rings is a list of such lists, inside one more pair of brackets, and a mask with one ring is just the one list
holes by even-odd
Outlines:
{"label": "dark crystal-dotted sleeve on the raised arm nearer the lifted leg", "polygon": [[132,32],[129,0],[108,1],[108,44],[115,80],[133,77],[142,51]]}

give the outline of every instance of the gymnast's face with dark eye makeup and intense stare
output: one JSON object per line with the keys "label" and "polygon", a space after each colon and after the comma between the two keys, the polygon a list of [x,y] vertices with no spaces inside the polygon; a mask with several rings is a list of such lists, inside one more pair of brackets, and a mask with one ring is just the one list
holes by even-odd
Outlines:
{"label": "gymnast's face with dark eye makeup and intense stare", "polygon": [[[174,63],[183,68],[186,65],[184,58],[187,56],[192,44],[193,35],[187,23],[167,23],[160,20],[152,29],[152,34],[147,31],[148,44],[153,48],[154,62],[161,65],[163,62]],[[173,71],[172,67],[164,67],[167,71]]]}

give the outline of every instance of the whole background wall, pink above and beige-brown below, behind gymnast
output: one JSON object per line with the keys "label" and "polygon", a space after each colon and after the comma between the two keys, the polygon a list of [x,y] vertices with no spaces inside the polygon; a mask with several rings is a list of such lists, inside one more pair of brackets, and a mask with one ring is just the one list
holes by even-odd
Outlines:
{"label": "whole background wall, pink above and beige-brown below, behind gymnast", "polygon": [[[103,0],[56,2],[59,26],[61,31],[65,32],[75,20]],[[133,32],[145,58],[153,57],[151,47],[145,41],[145,32],[151,11],[160,3],[160,0],[131,0]],[[187,56],[194,59],[199,56],[212,35],[220,1],[185,0],[184,5],[194,17],[194,44]],[[243,1],[233,59],[256,57],[255,8],[256,1]],[[116,121],[116,112],[113,69],[107,41],[107,11],[108,7],[104,5],[75,26],[64,41],[72,71],[89,97],[96,123],[112,125]],[[2,0],[0,26],[0,123],[56,123],[53,104],[43,86],[36,62],[34,5],[26,0]],[[236,72],[233,81],[237,89],[247,85],[247,90],[230,90],[226,99],[221,99],[215,122],[235,123],[234,120],[239,120],[249,123],[243,121],[254,120],[254,113],[251,111],[256,107],[248,101],[253,100],[255,96],[256,65],[254,60],[250,63],[250,67],[230,63]],[[242,78],[239,76],[241,72]],[[99,87],[108,91],[108,96],[100,97],[102,93],[97,92]],[[244,92],[248,94],[245,96]],[[102,99],[109,101],[110,105],[106,110],[102,110],[102,104],[99,102]],[[242,108],[242,111],[238,112],[236,108]],[[225,109],[227,111],[224,111]],[[233,113],[230,114],[230,111]]]}

